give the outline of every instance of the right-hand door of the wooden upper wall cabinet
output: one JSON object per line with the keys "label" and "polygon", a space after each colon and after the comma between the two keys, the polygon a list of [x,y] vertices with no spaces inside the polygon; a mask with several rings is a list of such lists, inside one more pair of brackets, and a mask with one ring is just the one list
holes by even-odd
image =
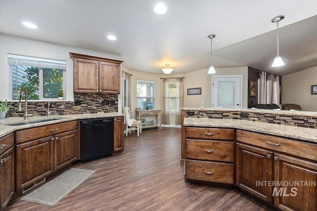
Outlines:
{"label": "right-hand door of the wooden upper wall cabinet", "polygon": [[108,94],[120,94],[120,64],[100,62],[99,91]]}

